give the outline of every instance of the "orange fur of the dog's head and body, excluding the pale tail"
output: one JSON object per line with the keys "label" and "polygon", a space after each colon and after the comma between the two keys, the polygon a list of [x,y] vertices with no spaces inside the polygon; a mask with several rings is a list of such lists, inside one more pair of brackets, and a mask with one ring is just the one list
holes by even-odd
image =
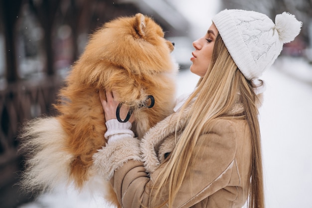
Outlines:
{"label": "orange fur of the dog's head and body, excluding the pale tail", "polygon": [[[105,146],[105,118],[99,92],[114,91],[118,101],[135,109],[135,133],[144,133],[172,112],[174,76],[171,42],[153,19],[136,14],[105,23],[96,31],[69,74],[55,105],[67,133],[65,151],[74,155],[70,173],[77,187],[89,178],[92,155]],[[139,108],[147,95],[153,108]]]}

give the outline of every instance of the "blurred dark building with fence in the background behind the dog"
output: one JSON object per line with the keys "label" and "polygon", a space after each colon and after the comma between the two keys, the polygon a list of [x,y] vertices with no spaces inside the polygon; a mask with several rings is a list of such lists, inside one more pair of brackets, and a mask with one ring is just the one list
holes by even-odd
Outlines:
{"label": "blurred dark building with fence in the background behind the dog", "polygon": [[32,196],[15,185],[23,170],[18,131],[29,119],[55,115],[52,104],[88,35],[117,16],[152,16],[165,37],[188,36],[189,24],[166,0],[0,1],[0,207]]}

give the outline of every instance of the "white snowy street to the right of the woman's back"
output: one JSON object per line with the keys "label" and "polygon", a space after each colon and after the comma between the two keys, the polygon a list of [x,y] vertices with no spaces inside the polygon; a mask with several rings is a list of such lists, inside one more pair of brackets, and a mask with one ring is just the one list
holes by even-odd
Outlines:
{"label": "white snowy street to the right of the woman's back", "polygon": [[[310,79],[311,72],[312,67]],[[260,127],[267,208],[312,208],[311,82],[276,69],[268,71],[264,80],[267,91]]]}

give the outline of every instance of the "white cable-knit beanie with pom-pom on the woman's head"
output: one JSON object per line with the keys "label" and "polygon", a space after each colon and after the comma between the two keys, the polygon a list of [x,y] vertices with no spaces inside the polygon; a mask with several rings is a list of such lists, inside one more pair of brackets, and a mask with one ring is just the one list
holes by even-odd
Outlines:
{"label": "white cable-knit beanie with pom-pom on the woman's head", "polygon": [[274,22],[265,14],[225,9],[212,18],[237,67],[248,80],[259,78],[280,55],[283,44],[295,39],[302,22],[283,12]]}

